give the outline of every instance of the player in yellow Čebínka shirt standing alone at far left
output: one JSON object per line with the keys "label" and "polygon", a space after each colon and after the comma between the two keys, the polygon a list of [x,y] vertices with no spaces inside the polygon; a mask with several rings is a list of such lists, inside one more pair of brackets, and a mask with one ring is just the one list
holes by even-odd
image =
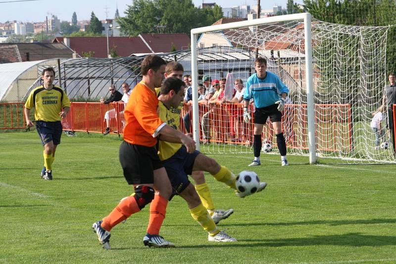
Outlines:
{"label": "player in yellow \u010ceb\u00ednka shirt standing alone at far left", "polygon": [[25,103],[25,119],[28,127],[32,127],[30,110],[34,107],[36,129],[44,145],[44,167],[41,171],[43,179],[52,179],[52,163],[55,158],[56,146],[60,144],[62,135],[61,120],[70,109],[70,101],[66,93],[54,86],[55,71],[52,67],[43,70],[42,86],[34,88]]}

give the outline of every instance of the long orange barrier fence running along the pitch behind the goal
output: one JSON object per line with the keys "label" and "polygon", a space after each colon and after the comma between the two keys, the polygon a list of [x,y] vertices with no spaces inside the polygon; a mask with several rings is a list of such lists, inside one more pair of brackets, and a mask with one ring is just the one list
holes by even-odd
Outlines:
{"label": "long orange barrier fence running along the pitch behind the goal", "polygon": [[[103,133],[106,128],[104,116],[110,120],[110,133],[122,134],[124,128],[124,103],[102,104],[99,102],[72,102],[70,112],[62,120],[64,130]],[[210,142],[251,145],[253,142],[253,112],[249,124],[243,121],[243,104],[199,104],[199,138],[203,141],[202,125],[207,126]],[[394,106],[395,109],[395,106]],[[185,104],[183,116],[190,114],[190,131],[192,132],[192,106]],[[202,122],[205,117],[204,122]],[[396,117],[394,116],[396,122]],[[308,123],[306,104],[287,104],[283,116],[283,131],[287,146],[308,149]],[[349,104],[315,104],[316,142],[318,150],[350,151],[353,148],[352,120]],[[0,129],[26,128],[23,103],[0,103]],[[395,131],[396,136],[396,131]],[[276,138],[270,120],[264,126],[263,139],[274,145]]]}

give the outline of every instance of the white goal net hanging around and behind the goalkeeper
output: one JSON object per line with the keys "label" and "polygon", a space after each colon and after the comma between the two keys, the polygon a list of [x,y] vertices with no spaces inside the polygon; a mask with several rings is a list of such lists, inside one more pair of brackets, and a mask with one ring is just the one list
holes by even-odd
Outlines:
{"label": "white goal net hanging around and behind the goalkeeper", "polygon": [[[212,81],[224,78],[225,89],[231,84],[235,92],[236,79],[245,87],[247,78],[255,73],[256,56],[265,57],[267,70],[290,90],[282,124],[288,154],[309,156],[311,163],[317,157],[336,158],[335,162],[342,159],[343,163],[395,162],[393,135],[384,129],[393,117],[384,113],[382,121],[372,122],[388,80],[389,27],[346,26],[314,19],[309,19],[310,27],[306,27],[306,14],[298,15],[297,19],[286,15],[250,20],[251,24],[242,21],[193,29],[193,89],[198,80],[210,77]],[[309,28],[309,32],[305,30]],[[307,40],[312,46],[310,57],[306,56],[306,50],[310,52]],[[194,119],[193,132],[202,151],[252,153],[253,125],[243,122],[242,103],[194,107],[198,119]],[[379,124],[383,129],[376,134],[372,127]],[[272,144],[271,154],[279,154],[269,121],[262,139]],[[384,142],[389,148],[381,147]]]}

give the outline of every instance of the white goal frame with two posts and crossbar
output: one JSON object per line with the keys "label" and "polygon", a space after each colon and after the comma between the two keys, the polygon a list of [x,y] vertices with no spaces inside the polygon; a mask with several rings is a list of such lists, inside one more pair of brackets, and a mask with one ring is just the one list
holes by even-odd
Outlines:
{"label": "white goal frame with two posts and crossbar", "polygon": [[304,24],[305,46],[305,82],[308,117],[308,146],[309,163],[316,163],[315,123],[314,123],[314,97],[313,97],[313,68],[312,68],[312,39],[311,15],[309,13],[290,14],[282,16],[265,17],[228,24],[213,25],[191,30],[191,70],[193,80],[193,135],[199,149],[199,114],[198,114],[198,35],[207,32],[229,30],[243,27],[259,26],[264,24],[302,20]]}

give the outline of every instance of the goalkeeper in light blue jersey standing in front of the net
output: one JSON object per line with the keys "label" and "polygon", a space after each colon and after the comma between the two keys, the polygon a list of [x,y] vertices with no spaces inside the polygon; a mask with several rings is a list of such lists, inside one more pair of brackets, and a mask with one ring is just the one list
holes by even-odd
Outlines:
{"label": "goalkeeper in light blue jersey standing in front of the net", "polygon": [[250,76],[246,82],[244,93],[244,121],[249,123],[251,116],[248,105],[253,98],[254,130],[253,130],[253,151],[254,160],[249,166],[259,166],[261,151],[261,133],[268,117],[271,119],[272,128],[276,134],[276,143],[281,154],[282,166],[288,166],[286,159],[286,141],[282,132],[282,111],[285,108],[285,99],[289,89],[282,83],[278,76],[267,71],[267,60],[258,57],[254,61],[256,73]]}

